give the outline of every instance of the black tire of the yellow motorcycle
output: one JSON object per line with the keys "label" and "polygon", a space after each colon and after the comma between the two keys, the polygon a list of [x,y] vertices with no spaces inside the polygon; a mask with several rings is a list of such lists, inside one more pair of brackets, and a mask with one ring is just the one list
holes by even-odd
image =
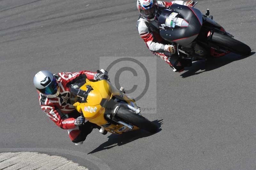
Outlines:
{"label": "black tire of the yellow motorcycle", "polygon": [[115,117],[118,117],[122,120],[132,123],[133,125],[146,130],[150,133],[156,133],[158,127],[152,123],[151,121],[147,120],[146,118],[140,116],[139,114],[133,113],[127,109],[118,109],[116,112]]}

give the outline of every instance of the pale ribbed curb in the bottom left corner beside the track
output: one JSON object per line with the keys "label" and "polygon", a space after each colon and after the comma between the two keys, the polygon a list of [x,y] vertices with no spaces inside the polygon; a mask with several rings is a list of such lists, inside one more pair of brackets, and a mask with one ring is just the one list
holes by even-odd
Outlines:
{"label": "pale ribbed curb in the bottom left corner beside the track", "polygon": [[37,152],[3,152],[0,154],[0,170],[88,170],[84,166],[60,156]]}

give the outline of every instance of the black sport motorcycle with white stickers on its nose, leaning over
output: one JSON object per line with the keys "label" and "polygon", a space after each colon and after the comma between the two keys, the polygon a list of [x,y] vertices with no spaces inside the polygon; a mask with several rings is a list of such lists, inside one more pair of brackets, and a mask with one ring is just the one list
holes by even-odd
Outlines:
{"label": "black sport motorcycle with white stickers on its nose, leaning over", "polygon": [[209,13],[207,10],[203,15],[194,7],[173,4],[158,18],[160,35],[177,45],[179,56],[193,61],[221,57],[229,52],[249,55],[251,48],[234,39]]}

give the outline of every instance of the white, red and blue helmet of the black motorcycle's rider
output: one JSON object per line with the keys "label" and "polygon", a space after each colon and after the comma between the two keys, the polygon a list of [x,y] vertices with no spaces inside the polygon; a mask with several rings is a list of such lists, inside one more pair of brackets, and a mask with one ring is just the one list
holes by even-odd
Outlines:
{"label": "white, red and blue helmet of the black motorcycle's rider", "polygon": [[155,19],[157,8],[156,0],[137,0],[137,9],[140,15],[148,21]]}

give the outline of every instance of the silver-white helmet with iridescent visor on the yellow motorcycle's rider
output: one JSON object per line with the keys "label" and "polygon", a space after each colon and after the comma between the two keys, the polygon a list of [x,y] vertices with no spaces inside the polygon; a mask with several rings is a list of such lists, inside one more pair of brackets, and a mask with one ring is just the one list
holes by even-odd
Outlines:
{"label": "silver-white helmet with iridescent visor on the yellow motorcycle's rider", "polygon": [[34,86],[38,91],[48,97],[57,97],[56,93],[59,91],[58,83],[49,71],[43,70],[36,73],[34,77]]}

